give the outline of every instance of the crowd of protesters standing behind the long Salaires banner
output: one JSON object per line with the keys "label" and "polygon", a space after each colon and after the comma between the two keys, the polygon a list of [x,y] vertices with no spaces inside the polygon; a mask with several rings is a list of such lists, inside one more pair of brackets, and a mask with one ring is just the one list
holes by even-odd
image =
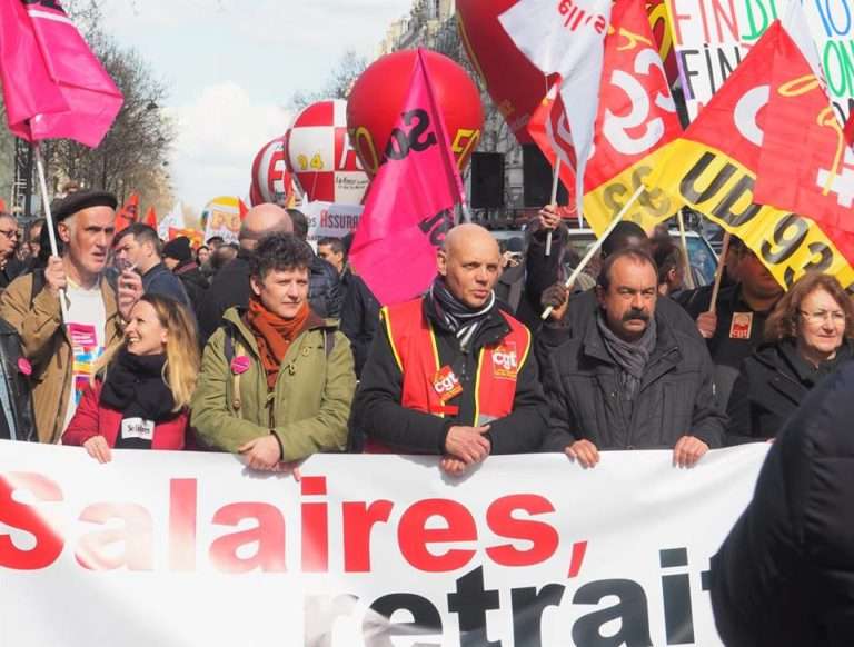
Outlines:
{"label": "crowd of protesters standing behind the long Salaires banner", "polygon": [[19,241],[0,216],[1,437],[100,461],[227,451],[264,470],[345,450],[436,455],[453,475],[491,454],[589,468],[633,448],[691,467],[773,440],[854,349],[834,278],[784,292],[737,240],[714,307],[709,287],[684,289],[666,231],[633,222],[566,288],[578,258],[545,208],[504,248],[479,226],[451,229],[429,290],[380,308],[350,241],[315,252],[298,210],[255,207],[237,245],[196,250],[141,223],[117,232],[115,210],[102,191],[58,202],[59,256],[43,221]]}

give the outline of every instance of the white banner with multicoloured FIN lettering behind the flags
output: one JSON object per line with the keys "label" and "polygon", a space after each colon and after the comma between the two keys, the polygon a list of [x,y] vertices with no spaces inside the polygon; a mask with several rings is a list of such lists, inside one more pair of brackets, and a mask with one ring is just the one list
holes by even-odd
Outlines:
{"label": "white banner with multicoloured FIN lettering behind the flags", "polygon": [[[800,1],[800,0],[794,0]],[[666,0],[692,120],[790,0]],[[841,123],[854,106],[854,0],[803,2]]]}

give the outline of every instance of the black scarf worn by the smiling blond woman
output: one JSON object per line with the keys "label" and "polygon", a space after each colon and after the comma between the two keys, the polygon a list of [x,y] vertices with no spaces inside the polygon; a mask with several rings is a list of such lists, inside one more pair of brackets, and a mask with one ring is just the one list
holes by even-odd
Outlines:
{"label": "black scarf worn by the smiling blond woman", "polygon": [[[163,380],[165,366],[166,355],[132,355],[122,348],[108,367],[101,405],[120,411],[122,420],[141,418],[158,424],[175,418],[175,398]],[[151,441],[122,438],[120,429],[116,447],[151,449]]]}

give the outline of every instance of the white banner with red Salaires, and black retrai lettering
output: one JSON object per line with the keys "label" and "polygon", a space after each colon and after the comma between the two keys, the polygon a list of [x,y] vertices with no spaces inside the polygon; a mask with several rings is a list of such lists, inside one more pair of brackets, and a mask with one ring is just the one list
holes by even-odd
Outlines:
{"label": "white banner with red Salaires, and black retrai lettering", "polygon": [[[721,645],[705,573],[767,445],[437,460],[0,441],[0,645]],[[485,628],[484,628],[485,627]]]}

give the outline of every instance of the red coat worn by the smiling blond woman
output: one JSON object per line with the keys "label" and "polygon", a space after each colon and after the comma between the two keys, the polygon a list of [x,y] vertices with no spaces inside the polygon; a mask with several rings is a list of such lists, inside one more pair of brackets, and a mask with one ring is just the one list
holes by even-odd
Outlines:
{"label": "red coat worn by the smiling blond woman", "polygon": [[[101,405],[100,395],[100,381],[86,388],[75,417],[62,435],[62,445],[82,445],[95,436],[103,436],[110,447],[116,446],[122,414]],[[183,449],[188,420],[189,415],[183,410],[176,418],[156,425],[151,449]]]}

